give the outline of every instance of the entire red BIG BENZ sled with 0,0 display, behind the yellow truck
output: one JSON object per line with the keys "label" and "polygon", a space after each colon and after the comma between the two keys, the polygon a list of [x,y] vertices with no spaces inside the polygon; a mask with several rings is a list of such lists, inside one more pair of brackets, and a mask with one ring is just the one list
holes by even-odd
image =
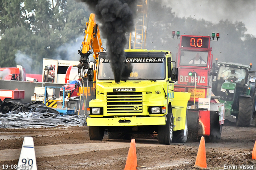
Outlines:
{"label": "entire red BIG BENZ sled with 0,0 display, behind the yellow truck", "polygon": [[215,140],[220,139],[224,124],[224,104],[219,103],[211,91],[212,75],[216,73],[212,70],[210,40],[210,36],[180,36],[179,79],[174,91],[191,93],[188,125],[189,132],[194,132],[192,136],[208,136]]}

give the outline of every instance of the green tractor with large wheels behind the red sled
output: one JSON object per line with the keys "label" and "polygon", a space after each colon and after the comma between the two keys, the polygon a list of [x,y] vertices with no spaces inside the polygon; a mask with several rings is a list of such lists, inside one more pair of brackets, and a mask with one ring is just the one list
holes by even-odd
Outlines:
{"label": "green tractor with large wheels behind the red sled", "polygon": [[[239,63],[216,63],[216,77],[212,83],[212,92],[220,96],[225,103],[225,119],[236,126],[249,127],[255,120],[255,85],[250,82],[252,65]],[[255,123],[254,123],[255,125]]]}

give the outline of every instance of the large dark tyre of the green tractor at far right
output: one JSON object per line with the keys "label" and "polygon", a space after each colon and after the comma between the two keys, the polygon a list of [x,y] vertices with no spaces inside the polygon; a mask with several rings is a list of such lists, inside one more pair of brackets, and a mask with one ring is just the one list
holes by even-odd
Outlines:
{"label": "large dark tyre of the green tractor at far right", "polygon": [[236,120],[238,127],[250,127],[252,119],[252,98],[241,97],[239,99],[239,113]]}

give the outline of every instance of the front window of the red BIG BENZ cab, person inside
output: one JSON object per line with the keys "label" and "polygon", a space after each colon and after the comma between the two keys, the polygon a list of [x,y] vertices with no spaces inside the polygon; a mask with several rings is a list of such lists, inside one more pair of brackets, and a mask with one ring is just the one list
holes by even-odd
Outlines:
{"label": "front window of the red BIG BENZ cab, person inside", "polygon": [[185,51],[180,53],[180,65],[207,66],[208,51]]}

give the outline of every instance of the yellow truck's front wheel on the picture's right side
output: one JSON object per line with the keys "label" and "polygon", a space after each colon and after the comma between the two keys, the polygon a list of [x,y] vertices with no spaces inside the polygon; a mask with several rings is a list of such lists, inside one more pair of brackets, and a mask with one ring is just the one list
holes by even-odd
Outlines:
{"label": "yellow truck's front wheel on the picture's right side", "polygon": [[158,143],[160,144],[171,144],[173,137],[173,116],[172,116],[172,108],[168,108],[169,112],[166,115],[167,121],[166,125],[158,126]]}

